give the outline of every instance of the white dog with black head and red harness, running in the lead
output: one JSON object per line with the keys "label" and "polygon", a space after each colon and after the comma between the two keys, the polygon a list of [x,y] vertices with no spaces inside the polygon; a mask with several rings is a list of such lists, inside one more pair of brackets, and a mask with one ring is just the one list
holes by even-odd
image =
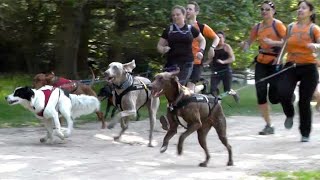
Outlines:
{"label": "white dog with black head and red harness, running in the lead", "polygon": [[[94,96],[66,94],[60,88],[43,86],[36,90],[30,87],[18,87],[5,97],[10,105],[20,104],[43,121],[47,135],[40,142],[53,143],[53,135],[60,139],[69,137],[73,129],[73,120],[81,115],[99,111],[100,101]],[[59,115],[67,121],[67,129],[61,128]]]}

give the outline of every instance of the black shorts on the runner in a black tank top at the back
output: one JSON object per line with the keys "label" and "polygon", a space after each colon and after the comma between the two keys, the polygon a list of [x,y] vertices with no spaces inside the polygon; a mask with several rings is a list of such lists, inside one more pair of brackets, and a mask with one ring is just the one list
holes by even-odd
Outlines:
{"label": "black shorts on the runner in a black tank top at the back", "polygon": [[231,81],[232,81],[232,72],[230,69],[221,70],[218,74],[211,75],[211,93],[213,95],[218,95],[218,85],[222,81],[224,92],[230,91]]}

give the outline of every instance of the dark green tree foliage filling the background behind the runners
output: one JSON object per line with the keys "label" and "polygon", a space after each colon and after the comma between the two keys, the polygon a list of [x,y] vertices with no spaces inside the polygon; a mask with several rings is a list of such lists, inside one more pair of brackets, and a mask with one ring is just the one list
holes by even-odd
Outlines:
{"label": "dark green tree foliage filling the background behind the runners", "polygon": [[[35,73],[38,69],[50,69],[56,62],[55,58],[61,57],[55,55],[56,40],[61,39],[57,34],[57,27],[63,25],[63,14],[58,12],[63,8],[76,10],[82,6],[89,11],[88,14],[83,12],[83,17],[89,20],[89,24],[79,27],[86,26],[89,30],[83,32],[81,38],[87,37],[82,39],[87,39],[89,43],[82,42],[80,45],[86,45],[87,48],[81,51],[88,51],[87,56],[95,59],[101,69],[111,61],[124,62],[133,58],[139,64],[137,72],[144,72],[146,67],[159,68],[164,63],[164,57],[156,51],[156,43],[163,28],[170,23],[171,8],[176,4],[184,6],[187,2],[188,0],[2,0],[0,45],[12,49],[5,52],[8,58],[3,63],[9,64],[11,61],[11,64],[15,64],[5,70],[27,70]],[[239,49],[239,42],[247,39],[252,26],[261,20],[258,8],[261,2],[263,1],[198,1],[201,8],[198,20],[215,31],[225,31],[227,42],[235,51],[235,69],[246,68],[257,54],[257,46],[253,46],[250,53],[243,53]],[[276,18],[285,24],[292,22],[296,17],[297,2],[275,0]],[[320,1],[314,0],[313,3],[319,14]]]}

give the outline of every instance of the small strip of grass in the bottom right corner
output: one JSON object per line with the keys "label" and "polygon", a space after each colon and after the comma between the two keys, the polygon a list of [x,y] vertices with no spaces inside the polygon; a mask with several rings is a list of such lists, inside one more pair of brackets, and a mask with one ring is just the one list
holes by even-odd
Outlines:
{"label": "small strip of grass in the bottom right corner", "polygon": [[263,172],[260,175],[266,178],[272,178],[276,180],[316,180],[320,179],[320,170],[295,172]]}

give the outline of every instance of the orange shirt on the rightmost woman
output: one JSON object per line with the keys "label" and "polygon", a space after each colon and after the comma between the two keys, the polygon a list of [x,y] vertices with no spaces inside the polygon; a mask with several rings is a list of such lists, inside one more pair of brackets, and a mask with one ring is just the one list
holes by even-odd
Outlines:
{"label": "orange shirt on the rightmost woman", "polygon": [[[287,43],[287,62],[301,64],[317,63],[316,54],[307,47],[309,43],[314,43],[309,32],[310,26],[311,24],[305,27],[298,27],[297,23],[293,23]],[[312,33],[315,39],[319,39],[319,26],[314,25]]]}

